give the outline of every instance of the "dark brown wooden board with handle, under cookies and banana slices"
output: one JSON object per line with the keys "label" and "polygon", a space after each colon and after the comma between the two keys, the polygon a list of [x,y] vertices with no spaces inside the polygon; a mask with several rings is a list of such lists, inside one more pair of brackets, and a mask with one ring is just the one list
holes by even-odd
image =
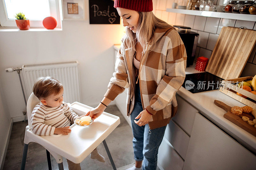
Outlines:
{"label": "dark brown wooden board with handle, under cookies and banana slices", "polygon": [[223,103],[219,100],[214,100],[214,103],[216,104],[216,106],[219,106],[220,108],[227,111],[227,113],[225,113],[223,117],[225,117],[229,121],[233,122],[237,126],[241,127],[245,131],[248,131],[253,136],[256,136],[256,128],[254,126],[249,125],[247,122],[242,120],[243,116],[249,117],[250,120],[255,119],[252,114],[248,114],[248,113],[243,112],[242,115],[234,115],[230,112],[231,106],[228,106],[227,104],[225,104],[225,103]]}

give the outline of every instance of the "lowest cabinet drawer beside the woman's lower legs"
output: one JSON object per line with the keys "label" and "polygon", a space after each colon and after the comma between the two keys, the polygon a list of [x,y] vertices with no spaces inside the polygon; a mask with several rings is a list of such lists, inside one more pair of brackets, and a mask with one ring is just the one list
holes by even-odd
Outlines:
{"label": "lowest cabinet drawer beside the woman's lower legs", "polygon": [[157,166],[161,170],[182,170],[183,164],[184,161],[177,152],[163,139],[158,150]]}

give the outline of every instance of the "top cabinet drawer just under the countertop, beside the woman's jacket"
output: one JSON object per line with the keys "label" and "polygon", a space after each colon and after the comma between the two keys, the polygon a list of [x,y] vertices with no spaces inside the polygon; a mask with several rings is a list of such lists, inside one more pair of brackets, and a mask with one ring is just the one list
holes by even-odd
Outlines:
{"label": "top cabinet drawer just under the countertop, beside the woman's jacket", "polygon": [[183,100],[180,96],[176,95],[176,99],[178,103],[178,111],[172,120],[179,124],[180,127],[184,129],[184,131],[186,131],[190,136],[196,117],[196,112],[198,112],[198,110]]}

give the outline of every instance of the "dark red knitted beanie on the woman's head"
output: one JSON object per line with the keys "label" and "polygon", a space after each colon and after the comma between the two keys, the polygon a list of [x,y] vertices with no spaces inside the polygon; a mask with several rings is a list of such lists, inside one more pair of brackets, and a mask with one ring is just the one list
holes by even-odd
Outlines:
{"label": "dark red knitted beanie on the woman's head", "polygon": [[133,11],[153,11],[152,0],[115,0],[114,7],[125,8]]}

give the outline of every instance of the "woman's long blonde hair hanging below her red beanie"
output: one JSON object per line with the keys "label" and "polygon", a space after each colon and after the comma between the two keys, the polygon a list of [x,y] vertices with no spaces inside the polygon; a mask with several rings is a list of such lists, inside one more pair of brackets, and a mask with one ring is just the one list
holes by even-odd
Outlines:
{"label": "woman's long blonde hair hanging below her red beanie", "polygon": [[136,42],[140,42],[143,53],[146,51],[146,44],[150,43],[154,45],[156,43],[155,31],[156,28],[168,28],[173,27],[163,20],[157,18],[152,11],[150,12],[140,12],[139,13],[139,24],[136,33],[126,27],[126,34],[123,41],[128,46],[128,48],[135,49]]}

